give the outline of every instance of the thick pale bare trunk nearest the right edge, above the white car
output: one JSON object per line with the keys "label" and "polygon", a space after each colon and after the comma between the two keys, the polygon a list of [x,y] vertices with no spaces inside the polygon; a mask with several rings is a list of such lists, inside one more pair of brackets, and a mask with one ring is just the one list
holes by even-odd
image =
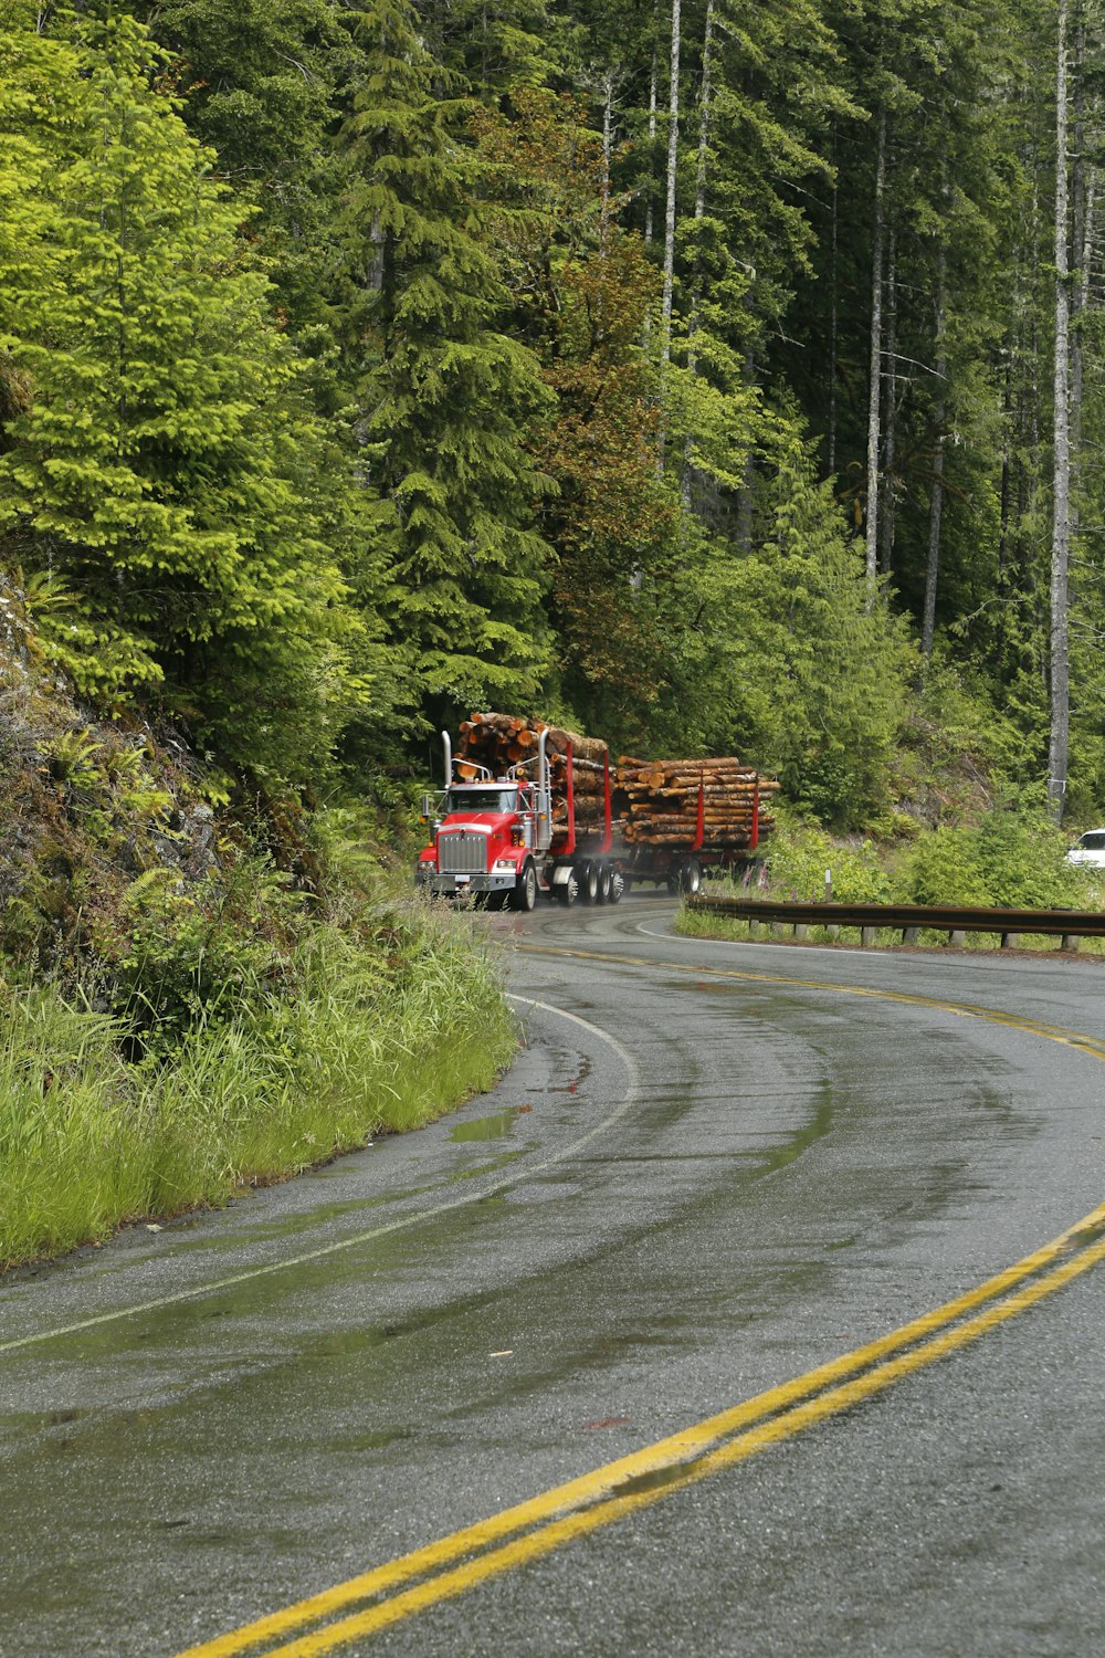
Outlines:
{"label": "thick pale bare trunk nearest the right edge, above the white car", "polygon": [[1067,290],[1067,0],[1059,0],[1055,55],[1055,446],[1052,487],[1052,655],[1047,796],[1062,822],[1070,746],[1070,293]]}

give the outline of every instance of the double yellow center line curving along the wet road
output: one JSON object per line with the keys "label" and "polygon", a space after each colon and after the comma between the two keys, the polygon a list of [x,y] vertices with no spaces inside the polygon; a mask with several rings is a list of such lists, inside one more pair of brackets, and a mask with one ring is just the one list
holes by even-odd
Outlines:
{"label": "double yellow center line curving along the wet road", "polygon": [[[639,957],[611,955],[586,950],[557,950],[522,947],[528,953],[570,958],[618,962],[656,968],[658,963]],[[843,995],[863,995],[914,1006],[938,1008],[966,1018],[987,1020],[1012,1026],[1050,1041],[1082,1050],[1105,1059],[1105,1045],[1080,1031],[1019,1020],[989,1008],[941,1001],[933,996],[914,996],[905,991],[880,991],[865,987],[832,985],[818,980],[789,978],[782,975],[746,973],[732,968],[702,968],[683,963],[663,967],[702,977],[774,983],[803,990],[828,990]],[[557,1486],[537,1497],[502,1509],[499,1514],[462,1527],[449,1535],[363,1572],[333,1588],[311,1595],[280,1612],[244,1625],[227,1635],[215,1636],[197,1646],[189,1646],[177,1658],[234,1658],[253,1646],[280,1640],[295,1630],[333,1617],[369,1597],[384,1595],[414,1578],[427,1578],[414,1587],[391,1595],[388,1600],[328,1623],[297,1640],[268,1648],[268,1658],[316,1658],[359,1636],[371,1635],[396,1623],[424,1607],[452,1598],[466,1590],[497,1577],[512,1567],[524,1565],[550,1554],[601,1525],[646,1507],[661,1497],[744,1461],[755,1451],[777,1444],[805,1428],[823,1421],[838,1411],[850,1409],[865,1398],[891,1386],[934,1360],[946,1356],[967,1341],[1007,1318],[1035,1305],[1045,1295],[1062,1288],[1070,1278],[1105,1258],[1105,1204],[1093,1209],[1059,1237],[1025,1255],[1021,1262],[987,1278],[966,1293],[954,1297],[929,1313],[911,1320],[876,1341],[855,1348],[840,1358],[807,1371],[803,1376],[770,1388],[752,1399],[732,1406],[716,1416],[681,1429],[625,1457],[618,1457],[578,1479]],[[1077,1250],[1075,1253],[1070,1253]],[[1055,1265],[1059,1257],[1067,1255]],[[1050,1270],[1045,1270],[1050,1268]],[[1027,1282],[1032,1280],[1032,1282]],[[991,1303],[991,1305],[986,1305]],[[976,1311],[976,1308],[984,1308]],[[974,1313],[967,1318],[966,1315]],[[626,1492],[628,1482],[656,1484]],[[515,1535],[522,1532],[524,1535]],[[504,1539],[512,1539],[502,1542]],[[490,1547],[499,1544],[499,1547]],[[480,1550],[484,1550],[480,1554]],[[466,1559],[477,1555],[477,1559]],[[454,1562],[461,1562],[456,1565]],[[451,1567],[451,1570],[444,1570]],[[437,1573],[429,1577],[429,1573]]]}

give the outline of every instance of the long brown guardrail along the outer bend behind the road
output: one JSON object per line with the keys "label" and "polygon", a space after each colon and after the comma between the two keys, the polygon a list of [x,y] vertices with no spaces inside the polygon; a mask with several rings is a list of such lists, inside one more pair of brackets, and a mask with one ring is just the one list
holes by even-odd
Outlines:
{"label": "long brown guardrail along the outer bend behind the road", "polygon": [[1078,938],[1105,938],[1102,910],[982,910],[946,904],[795,904],[774,899],[688,899],[688,909],[734,920],[774,922],[794,927],[803,938],[810,927],[858,927],[860,942],[875,943],[880,928],[901,932],[903,943],[916,943],[923,930],[946,932],[948,943],[963,945],[969,932],[1001,933],[1002,948],[1014,948],[1022,933],[1062,938],[1064,950],[1077,950]]}

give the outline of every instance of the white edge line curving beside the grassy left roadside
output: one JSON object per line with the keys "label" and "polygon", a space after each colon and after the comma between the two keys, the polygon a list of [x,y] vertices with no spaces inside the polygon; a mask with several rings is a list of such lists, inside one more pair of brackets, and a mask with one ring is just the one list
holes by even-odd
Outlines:
{"label": "white edge line curving beside the grassy left roadside", "polygon": [[55,1330],[38,1330],[30,1336],[18,1336],[15,1341],[0,1341],[0,1353],[13,1353],[17,1348],[35,1346],[40,1341],[53,1341],[60,1336],[80,1335],[84,1330],[94,1330],[98,1325],[118,1323],[121,1318],[134,1318],[139,1313],[154,1313],[164,1307],[174,1307],[181,1302],[195,1302],[204,1295],[217,1295],[220,1290],[232,1290],[240,1283],[250,1283],[253,1278],[268,1278],[278,1272],[288,1272],[292,1267],[306,1267],[313,1260],[325,1260],[328,1255],[338,1255],[343,1250],[356,1248],[359,1244],[371,1244],[374,1239],[383,1239],[389,1232],[403,1232],[408,1227],[421,1225],[426,1220],[436,1220],[437,1215],[449,1214],[451,1209],[466,1209],[469,1204],[480,1202],[485,1197],[494,1197],[497,1192],[505,1192],[512,1185],[519,1185],[522,1180],[530,1179],[535,1174],[542,1174],[545,1169],[552,1169],[558,1162],[565,1162],[568,1157],[575,1157],[585,1146],[590,1146],[593,1139],[605,1134],[620,1117],[630,1111],[636,1103],[639,1093],[639,1071],[636,1059],[623,1048],[616,1036],[605,1031],[601,1025],[593,1025],[591,1020],[581,1018],[578,1013],[567,1013],[563,1008],[553,1008],[548,1001],[537,1001],[533,996],[515,996],[509,991],[505,993],[509,1001],[522,1001],[525,1006],[540,1008],[543,1013],[553,1013],[557,1018],[572,1020],[573,1025],[581,1025],[583,1030],[598,1036],[610,1048],[615,1050],[621,1059],[626,1073],[630,1076],[630,1086],[625,1093],[621,1104],[616,1111],[611,1111],[608,1117],[603,1117],[593,1129],[580,1139],[572,1141],[563,1151],[557,1152],[553,1157],[547,1157],[543,1162],[533,1164],[528,1169],[519,1171],[514,1176],[507,1176],[502,1180],[495,1180],[492,1185],[484,1187],[479,1192],[466,1194],[464,1197],[454,1197],[447,1204],[436,1204],[432,1209],[421,1209],[414,1215],[404,1215],[401,1220],[391,1220],[384,1227],[373,1227],[371,1232],[358,1232],[356,1237],[341,1239],[338,1244],[326,1244],[323,1248],[308,1250],[305,1255],[292,1255],[288,1260],[270,1262],[265,1267],[252,1267],[249,1272],[234,1273],[230,1278],[217,1278],[214,1283],[199,1283],[192,1290],[177,1290],[176,1295],[162,1295],[152,1302],[138,1302],[134,1307],[121,1307],[111,1313],[98,1313],[94,1318],[81,1318],[80,1323],[60,1325]]}

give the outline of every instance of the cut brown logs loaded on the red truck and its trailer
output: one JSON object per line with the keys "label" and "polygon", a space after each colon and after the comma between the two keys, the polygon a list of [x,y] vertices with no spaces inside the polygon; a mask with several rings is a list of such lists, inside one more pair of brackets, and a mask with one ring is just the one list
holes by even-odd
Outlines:
{"label": "cut brown logs loaded on the red truck and its trailer", "polygon": [[[504,776],[510,766],[537,759],[537,741],[547,731],[545,751],[550,763],[553,822],[568,816],[567,753],[572,744],[575,821],[580,836],[603,831],[603,773],[606,744],[580,736],[543,720],[519,720],[512,715],[472,715],[461,725],[457,776],[477,778],[479,768]],[[533,776],[533,769],[527,771]],[[760,834],[774,827],[764,809],[767,797],[779,793],[777,783],[757,779],[755,771],[739,759],[631,759],[621,756],[610,768],[613,832],[626,846],[692,847],[697,832],[699,784],[704,794],[706,846],[741,851],[752,839],[752,809],[759,794]]]}

